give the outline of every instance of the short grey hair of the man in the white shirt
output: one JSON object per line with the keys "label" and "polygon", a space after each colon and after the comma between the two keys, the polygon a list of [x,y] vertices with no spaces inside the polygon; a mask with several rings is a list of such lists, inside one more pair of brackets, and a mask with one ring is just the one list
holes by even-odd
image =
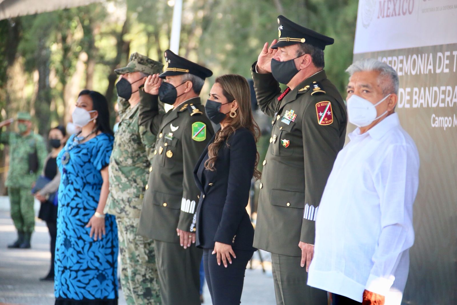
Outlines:
{"label": "short grey hair of the man in the white shirt", "polygon": [[[379,60],[366,58],[356,61],[346,69],[346,72],[349,73],[350,76],[352,76],[356,72],[363,71],[378,71],[378,80],[381,84],[381,87],[383,88],[383,94],[398,94],[400,83],[399,75],[395,70],[393,70],[393,68],[390,65]],[[383,79],[388,79],[390,82],[382,82]]]}

